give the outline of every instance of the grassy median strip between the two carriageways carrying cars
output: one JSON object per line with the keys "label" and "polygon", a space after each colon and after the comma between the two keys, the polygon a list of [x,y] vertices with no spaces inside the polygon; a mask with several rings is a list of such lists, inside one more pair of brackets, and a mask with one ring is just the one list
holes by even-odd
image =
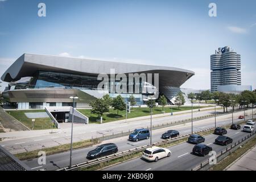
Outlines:
{"label": "grassy median strip between the two carriageways carrying cars", "polygon": [[[224,128],[228,129],[229,127],[230,127],[230,125],[227,125]],[[213,134],[213,131],[214,131],[214,129],[208,130],[208,131],[202,131],[202,132],[197,133],[197,134],[199,134],[201,136],[206,136],[206,135],[209,135],[209,134]],[[180,144],[180,143],[187,142],[187,140],[188,140],[188,137],[179,139],[175,142],[159,145],[159,147],[168,148],[168,147]],[[119,163],[126,162],[127,160],[130,160],[130,159],[139,158],[140,156],[142,156],[142,152],[135,152],[135,153],[130,154],[130,155],[125,155],[125,156],[121,156],[120,158],[109,160],[109,162],[102,162],[100,164],[96,164],[95,166],[92,166],[92,167],[89,167],[89,168],[81,168],[80,170],[82,170],[82,171],[95,171],[95,170],[98,170],[98,169],[106,168],[106,167],[114,165],[114,164],[119,164]]]}

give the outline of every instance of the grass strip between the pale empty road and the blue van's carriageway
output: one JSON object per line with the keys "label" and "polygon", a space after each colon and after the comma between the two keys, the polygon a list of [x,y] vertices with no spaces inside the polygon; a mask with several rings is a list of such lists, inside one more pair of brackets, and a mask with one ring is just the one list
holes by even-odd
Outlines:
{"label": "grass strip between the pale empty road and the blue van's carriageway", "polygon": [[[93,146],[94,144],[100,143],[99,140],[94,139],[94,140],[83,140],[81,142],[74,142],[73,143],[73,149],[78,149],[78,148],[85,148],[85,147],[90,147]],[[52,155],[52,154],[57,154],[60,152],[65,152],[70,150],[70,144],[62,144],[60,146],[55,146],[55,147],[49,147],[49,148],[42,148],[40,150],[34,150],[30,152],[23,152],[20,154],[15,154],[17,158],[20,160],[28,160],[28,159],[34,159],[38,158],[38,152],[39,151],[44,151],[46,152],[46,155]]]}

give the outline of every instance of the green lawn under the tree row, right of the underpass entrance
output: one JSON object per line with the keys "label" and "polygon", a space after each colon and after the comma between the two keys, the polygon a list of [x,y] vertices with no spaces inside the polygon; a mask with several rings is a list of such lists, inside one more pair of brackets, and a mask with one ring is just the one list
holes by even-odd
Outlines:
{"label": "green lawn under the tree row, right of the underpass entrance", "polygon": [[[200,106],[200,108],[209,107],[209,106]],[[198,107],[193,107],[193,109],[196,109]],[[90,109],[78,109],[82,114],[86,115],[89,118],[90,123],[100,123],[97,122],[96,119],[98,118],[97,114],[90,113]],[[183,110],[191,110],[190,106],[180,106],[180,109],[178,107],[173,107],[172,111],[183,111]],[[171,113],[171,107],[164,107],[164,111],[166,113]],[[162,113],[162,107],[155,107],[153,109],[153,114],[161,114]],[[121,119],[125,119],[125,110],[119,111],[117,115],[117,110],[109,109],[109,113],[104,113],[103,115],[103,122],[111,122],[111,121],[117,121]],[[142,117],[145,115],[150,115],[150,108],[148,107],[134,107],[133,110],[131,110],[131,113],[127,113],[127,118],[135,118],[135,117]]]}

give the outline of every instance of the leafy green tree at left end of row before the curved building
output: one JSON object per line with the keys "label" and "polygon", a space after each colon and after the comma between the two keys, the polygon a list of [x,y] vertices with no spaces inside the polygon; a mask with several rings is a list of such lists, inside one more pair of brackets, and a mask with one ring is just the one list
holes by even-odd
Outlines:
{"label": "leafy green tree at left end of row before the curved building", "polygon": [[92,107],[90,112],[98,114],[98,117],[102,116],[103,113],[109,112],[109,106],[103,98],[97,98],[95,101],[90,102],[90,106]]}

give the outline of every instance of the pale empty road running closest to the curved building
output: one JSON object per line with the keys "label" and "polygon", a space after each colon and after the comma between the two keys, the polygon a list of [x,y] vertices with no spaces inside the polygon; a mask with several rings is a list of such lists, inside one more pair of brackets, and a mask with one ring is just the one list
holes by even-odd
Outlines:
{"label": "pale empty road running closest to the curved building", "polygon": [[[217,110],[218,113],[221,113],[220,110]],[[193,117],[201,117],[204,115],[213,114],[213,110],[201,110],[196,111],[193,113]],[[243,112],[241,112],[243,114]],[[249,114],[249,113],[248,113]],[[153,125],[166,125],[167,122],[175,122],[182,119],[189,119],[191,118],[191,113],[183,113],[183,114],[177,114],[177,115],[168,115],[166,117],[159,117],[159,118],[153,118]],[[61,125],[70,125],[70,123],[61,123]],[[115,122],[108,122],[108,123],[102,123],[100,125],[98,124],[75,124],[75,127],[73,129],[73,142],[79,142],[81,140],[98,138],[102,137],[102,135],[112,135],[123,133],[130,131],[133,131],[136,128],[141,127],[149,127],[150,126],[150,119],[142,119],[139,121],[115,121]],[[61,129],[61,130],[53,130],[58,131],[57,133],[51,133],[52,130],[46,131],[19,131],[19,132],[11,132],[11,133],[1,133],[1,136],[10,135],[9,137],[11,140],[5,140],[3,139],[2,142],[0,142],[1,146],[5,147],[6,150],[11,152],[11,154],[18,154],[21,152],[27,152],[27,151],[33,151],[33,150],[39,150],[46,147],[53,147],[53,146],[59,146],[61,144],[70,143],[71,140],[71,129],[68,127],[67,129]],[[13,138],[11,137],[13,136]],[[18,139],[16,139],[18,138]]]}

